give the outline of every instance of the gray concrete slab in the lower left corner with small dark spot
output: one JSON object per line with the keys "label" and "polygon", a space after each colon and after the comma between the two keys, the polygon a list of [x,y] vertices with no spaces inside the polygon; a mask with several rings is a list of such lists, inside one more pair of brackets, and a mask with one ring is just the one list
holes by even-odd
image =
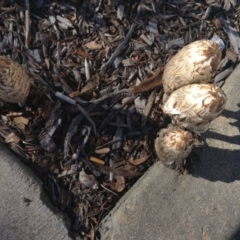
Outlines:
{"label": "gray concrete slab in the lower left corner with small dark spot", "polygon": [[[24,198],[32,201],[29,206]],[[0,144],[0,240],[70,239],[67,224],[38,178]]]}

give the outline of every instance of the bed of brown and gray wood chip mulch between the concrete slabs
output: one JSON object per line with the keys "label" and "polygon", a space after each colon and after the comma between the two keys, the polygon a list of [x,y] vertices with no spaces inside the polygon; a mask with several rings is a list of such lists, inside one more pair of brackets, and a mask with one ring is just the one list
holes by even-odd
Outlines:
{"label": "bed of brown and gray wood chip mulch between the concrete slabs", "polygon": [[170,122],[163,90],[134,86],[214,34],[226,44],[213,78],[222,85],[240,53],[237,2],[1,1],[0,54],[32,84],[25,107],[1,102],[0,138],[68,214],[73,237],[98,239],[101,220],[157,161],[153,141]]}

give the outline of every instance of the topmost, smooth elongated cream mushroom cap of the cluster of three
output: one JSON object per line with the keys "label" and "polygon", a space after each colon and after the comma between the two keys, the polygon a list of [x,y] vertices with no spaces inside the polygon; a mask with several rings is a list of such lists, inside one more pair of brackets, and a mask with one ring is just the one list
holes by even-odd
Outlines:
{"label": "topmost, smooth elongated cream mushroom cap of the cluster of three", "polygon": [[221,57],[220,46],[211,40],[199,40],[183,47],[164,68],[165,93],[169,95],[192,83],[209,83]]}

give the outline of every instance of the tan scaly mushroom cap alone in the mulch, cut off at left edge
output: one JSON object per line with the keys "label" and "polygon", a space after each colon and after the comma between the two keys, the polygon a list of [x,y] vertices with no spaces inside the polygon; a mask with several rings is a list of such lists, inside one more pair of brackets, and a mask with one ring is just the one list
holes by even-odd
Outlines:
{"label": "tan scaly mushroom cap alone in the mulch, cut off at left edge", "polygon": [[0,56],[0,98],[24,104],[29,90],[30,77],[22,66],[6,56]]}

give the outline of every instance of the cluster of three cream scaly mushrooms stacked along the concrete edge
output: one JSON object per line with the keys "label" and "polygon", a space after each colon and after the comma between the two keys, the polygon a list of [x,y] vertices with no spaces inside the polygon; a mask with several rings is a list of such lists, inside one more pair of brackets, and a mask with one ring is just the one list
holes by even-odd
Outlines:
{"label": "cluster of three cream scaly mushrooms stacked along the concrete edge", "polygon": [[172,126],[160,130],[155,151],[165,165],[178,166],[190,154],[197,134],[205,132],[225,108],[223,90],[210,84],[222,49],[212,40],[183,47],[165,66],[163,112]]}

